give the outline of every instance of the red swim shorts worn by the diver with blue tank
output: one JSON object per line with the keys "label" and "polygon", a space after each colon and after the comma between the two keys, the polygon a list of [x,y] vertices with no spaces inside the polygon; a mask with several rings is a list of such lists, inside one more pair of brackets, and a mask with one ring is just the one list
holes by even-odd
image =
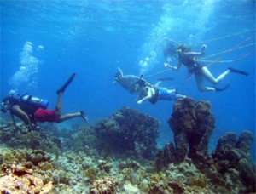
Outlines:
{"label": "red swim shorts worn by the diver with blue tank", "polygon": [[61,117],[59,117],[56,114],[55,110],[46,110],[43,108],[38,108],[38,110],[35,112],[35,117],[38,122],[61,122]]}

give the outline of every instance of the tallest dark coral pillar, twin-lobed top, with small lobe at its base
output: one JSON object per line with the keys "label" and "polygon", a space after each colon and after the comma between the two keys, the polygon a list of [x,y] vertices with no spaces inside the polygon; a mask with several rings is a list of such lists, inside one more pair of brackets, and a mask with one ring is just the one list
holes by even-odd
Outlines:
{"label": "tallest dark coral pillar, twin-lobed top, with small lobe at its base", "polygon": [[177,100],[168,120],[174,133],[175,146],[172,143],[166,145],[158,153],[158,157],[162,158],[157,163],[182,163],[186,157],[190,157],[197,166],[207,168],[207,147],[215,128],[214,122],[210,102],[195,102],[191,98]]}

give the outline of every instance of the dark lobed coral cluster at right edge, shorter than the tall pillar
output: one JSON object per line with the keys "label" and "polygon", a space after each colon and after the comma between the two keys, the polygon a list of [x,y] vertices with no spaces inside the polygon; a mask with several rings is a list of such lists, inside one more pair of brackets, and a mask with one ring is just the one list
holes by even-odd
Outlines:
{"label": "dark lobed coral cluster at right edge, shorter than the tall pillar", "polygon": [[219,173],[240,179],[245,186],[240,187],[241,192],[256,191],[256,168],[249,154],[252,142],[253,134],[249,131],[243,131],[238,140],[236,134],[226,133],[218,140],[216,150],[212,151]]}

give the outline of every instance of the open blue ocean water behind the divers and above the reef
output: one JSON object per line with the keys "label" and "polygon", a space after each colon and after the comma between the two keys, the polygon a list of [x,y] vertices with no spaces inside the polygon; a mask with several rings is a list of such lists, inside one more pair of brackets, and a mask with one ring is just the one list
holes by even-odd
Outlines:
{"label": "open blue ocean water behind the divers and above the reef", "polygon": [[[47,99],[49,108],[55,108],[56,90],[76,72],[64,95],[64,112],[83,109],[97,123],[130,106],[160,120],[160,147],[172,141],[166,121],[173,101],[137,105],[135,94],[113,84],[119,67],[125,74],[143,74],[151,83],[173,77],[163,85],[195,100],[211,101],[216,128],[210,150],[228,131],[238,135],[250,130],[255,139],[255,13],[254,0],[2,0],[1,99],[15,90]],[[166,38],[195,51],[206,43],[206,60],[211,61],[205,65],[216,77],[229,66],[249,76],[230,74],[219,83],[220,88],[230,83],[229,89],[201,93],[194,77],[186,79],[185,67],[165,71],[162,47]],[[61,127],[79,122],[74,119]],[[253,149],[255,153],[255,141]]]}

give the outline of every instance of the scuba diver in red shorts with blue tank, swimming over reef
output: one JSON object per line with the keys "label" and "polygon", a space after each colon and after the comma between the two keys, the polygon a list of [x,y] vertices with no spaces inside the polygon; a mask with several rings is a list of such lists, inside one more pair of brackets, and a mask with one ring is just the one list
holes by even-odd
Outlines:
{"label": "scuba diver in red shorts with blue tank, swimming over reef", "polygon": [[[67,86],[72,83],[75,73],[67,80],[67,82],[57,90],[58,100],[55,110],[47,110],[49,104],[48,100],[42,100],[32,95],[18,95],[8,96],[2,101],[1,111],[9,111],[15,123],[15,117],[19,117],[27,126],[29,130],[34,128],[37,122],[52,122],[61,123],[73,117],[82,117],[86,123],[88,119],[84,111],[69,113],[62,115],[62,95],[64,94]],[[16,127],[16,126],[15,126]]]}

